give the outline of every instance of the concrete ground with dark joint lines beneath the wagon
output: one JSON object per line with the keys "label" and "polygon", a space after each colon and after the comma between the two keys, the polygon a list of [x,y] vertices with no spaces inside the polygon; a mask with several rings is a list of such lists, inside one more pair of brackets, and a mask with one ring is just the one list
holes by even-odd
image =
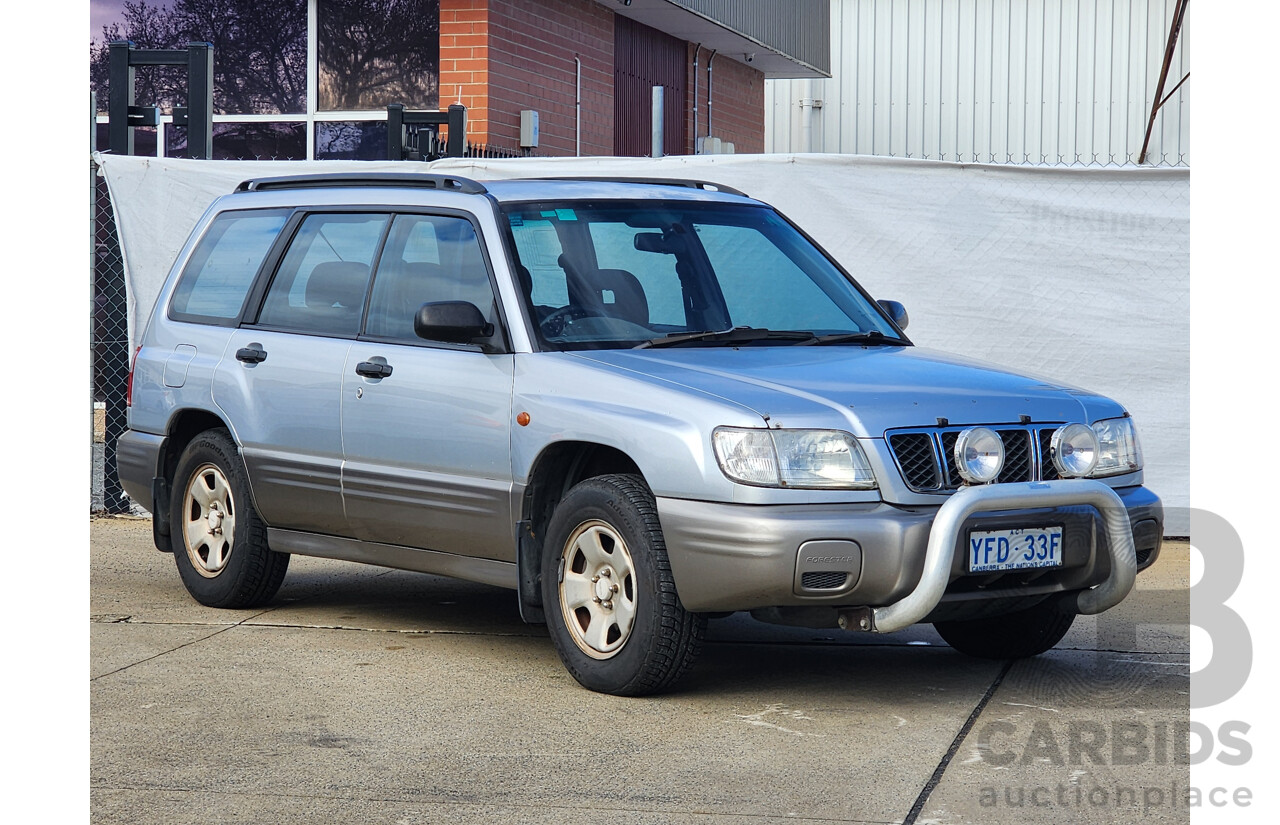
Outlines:
{"label": "concrete ground with dark joint lines beneath the wagon", "polygon": [[1189,547],[1033,660],[932,627],[713,620],[658,697],[591,693],[508,591],[294,556],[202,608],[91,524],[95,822],[1187,822]]}

